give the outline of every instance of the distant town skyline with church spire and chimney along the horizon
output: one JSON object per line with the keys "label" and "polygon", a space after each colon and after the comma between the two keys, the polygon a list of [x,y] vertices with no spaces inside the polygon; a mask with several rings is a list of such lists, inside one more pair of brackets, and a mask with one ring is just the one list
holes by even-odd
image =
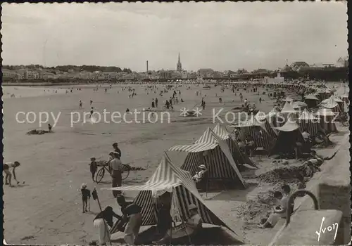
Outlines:
{"label": "distant town skyline with church spire and chimney along the horizon", "polygon": [[[311,79],[322,79],[316,74],[326,74],[329,72],[334,75],[332,79],[347,79],[345,77],[348,68],[348,58],[339,58],[335,63],[320,63],[309,65],[304,61],[296,61],[291,65],[284,65],[277,70],[267,70],[259,68],[251,72],[246,69],[236,71],[216,71],[211,68],[201,68],[198,71],[187,71],[182,69],[180,53],[176,63],[176,70],[149,70],[148,61],[146,61],[146,70],[144,72],[133,72],[128,68],[120,67],[100,67],[94,65],[61,65],[56,67],[44,67],[42,65],[3,65],[2,74],[3,82],[30,82],[50,80],[64,81],[143,81],[143,80],[175,80],[175,79],[250,79],[272,77],[280,73],[288,77],[312,77]],[[344,69],[346,68],[346,69]],[[325,76],[325,75],[324,75]],[[323,79],[324,79],[323,76]],[[287,76],[285,76],[286,78]],[[336,77],[336,78],[335,78]],[[329,79],[329,76],[328,78]]]}

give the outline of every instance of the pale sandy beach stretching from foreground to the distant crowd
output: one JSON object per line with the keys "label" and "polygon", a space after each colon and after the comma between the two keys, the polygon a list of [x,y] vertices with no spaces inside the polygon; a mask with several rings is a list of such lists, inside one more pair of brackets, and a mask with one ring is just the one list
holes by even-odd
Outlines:
{"label": "pale sandy beach stretching from foreground to the distant crowd", "polygon": [[[9,188],[4,186],[4,228],[5,238],[8,243],[25,244],[87,244],[95,240],[96,235],[93,228],[94,214],[99,212],[96,201],[91,200],[90,214],[82,214],[82,200],[80,196],[80,185],[85,182],[89,189],[96,186],[103,207],[110,205],[115,211],[120,209],[108,190],[100,188],[110,187],[110,177],[105,176],[103,183],[93,183],[89,173],[89,158],[101,157],[108,160],[108,153],[112,150],[111,144],[119,143],[122,150],[122,162],[133,167],[144,167],[146,171],[132,171],[130,176],[123,181],[122,185],[134,185],[145,182],[158,166],[163,151],[172,145],[189,144],[194,138],[199,138],[206,127],[214,127],[212,122],[212,110],[224,108],[222,116],[231,108],[241,105],[239,92],[247,98],[250,103],[256,103],[258,110],[268,112],[272,109],[273,101],[267,95],[262,95],[264,89],[258,88],[257,93],[237,91],[237,96],[230,90],[220,91],[220,86],[211,89],[202,89],[202,86],[191,86],[187,89],[182,86],[178,89],[182,92],[180,98],[184,103],[174,106],[175,112],[170,112],[170,123],[157,122],[146,123],[120,123],[115,124],[99,122],[82,124],[79,122],[70,126],[72,112],[89,112],[89,101],[92,100],[94,110],[125,112],[127,108],[151,107],[152,98],[158,98],[161,108],[166,99],[172,95],[171,90],[161,97],[158,93],[149,91],[145,87],[133,85],[137,96],[129,98],[128,91],[122,91],[121,86],[113,86],[107,93],[103,88],[93,91],[94,86],[80,86],[81,91],[73,90],[73,93],[49,93],[45,94],[37,90],[37,94],[31,92],[28,96],[21,95],[20,98],[4,98],[4,161],[18,160],[21,166],[16,171],[19,181],[25,181],[23,186]],[[61,87],[63,88],[63,87]],[[158,86],[158,91],[162,86]],[[4,91],[11,89],[6,87]],[[65,92],[65,87],[63,91]],[[17,91],[24,88],[18,87]],[[28,90],[28,91],[31,91]],[[50,89],[52,90],[52,89]],[[180,116],[180,109],[191,110],[194,106],[200,106],[201,96],[196,96],[200,91],[206,101],[206,110],[202,111],[201,117],[189,118]],[[294,93],[287,94],[295,98]],[[206,95],[206,96],[205,96]],[[218,97],[222,97],[222,103]],[[259,103],[258,99],[264,99]],[[79,108],[82,100],[83,108]],[[16,122],[17,112],[53,112],[57,115],[61,112],[54,133],[44,135],[27,136],[30,129],[39,128],[39,122],[33,124]],[[51,119],[49,123],[53,124]],[[42,126],[46,129],[46,124]],[[346,134],[348,129],[340,129],[332,141]],[[324,150],[318,150],[321,152]],[[186,154],[169,153],[172,162],[181,165]],[[323,154],[326,155],[326,154]],[[255,176],[266,173],[279,164],[272,165],[272,160],[267,157],[254,157],[258,164]],[[290,161],[290,166],[295,165]],[[251,174],[253,175],[253,174]],[[268,192],[273,188],[272,183],[260,183],[251,180],[251,175],[244,178],[246,182],[253,182],[253,186],[246,190],[231,190],[224,193],[210,193],[206,198],[206,204],[213,209],[229,226],[237,230],[250,244],[263,244],[263,239],[258,242],[256,233],[263,230],[254,229],[250,223],[241,221],[237,216],[238,209],[244,202],[256,197],[260,192]],[[256,183],[257,182],[257,183]],[[135,193],[127,193],[128,198],[133,198]],[[210,199],[211,198],[211,199]],[[258,218],[257,218],[258,219]],[[254,223],[254,222],[253,222]],[[13,233],[16,231],[16,233]],[[271,234],[265,230],[270,241]],[[263,237],[262,237],[263,238]],[[268,242],[269,242],[268,241]]]}

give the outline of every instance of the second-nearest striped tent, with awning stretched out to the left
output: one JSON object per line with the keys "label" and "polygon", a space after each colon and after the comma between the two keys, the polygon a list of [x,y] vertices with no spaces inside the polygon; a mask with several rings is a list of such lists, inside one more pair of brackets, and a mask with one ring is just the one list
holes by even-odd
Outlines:
{"label": "second-nearest striped tent, with awning stretched out to the left", "polygon": [[244,180],[227,142],[217,136],[209,127],[196,143],[175,145],[168,151],[188,152],[181,169],[189,171],[192,176],[196,174],[201,164],[205,164],[208,168],[208,179],[239,181],[240,185],[244,187]]}

